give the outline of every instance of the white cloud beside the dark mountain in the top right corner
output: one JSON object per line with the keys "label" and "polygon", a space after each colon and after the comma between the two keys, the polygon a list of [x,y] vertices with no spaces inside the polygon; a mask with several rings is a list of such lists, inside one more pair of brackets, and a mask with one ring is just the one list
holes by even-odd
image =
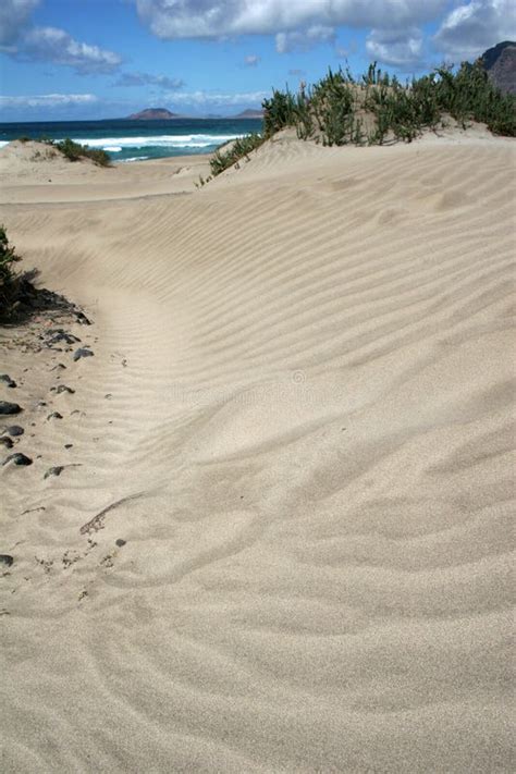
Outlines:
{"label": "white cloud beside the dark mountain in the top right corner", "polygon": [[514,0],[471,0],[449,13],[433,42],[449,60],[472,60],[487,48],[515,38]]}

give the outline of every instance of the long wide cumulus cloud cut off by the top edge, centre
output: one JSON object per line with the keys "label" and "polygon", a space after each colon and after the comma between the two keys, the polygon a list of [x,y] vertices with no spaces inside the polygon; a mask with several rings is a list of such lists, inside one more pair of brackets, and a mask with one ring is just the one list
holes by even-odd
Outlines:
{"label": "long wide cumulus cloud cut off by the top edge, centre", "polygon": [[322,25],[402,28],[435,19],[447,0],[134,0],[159,38],[275,35]]}

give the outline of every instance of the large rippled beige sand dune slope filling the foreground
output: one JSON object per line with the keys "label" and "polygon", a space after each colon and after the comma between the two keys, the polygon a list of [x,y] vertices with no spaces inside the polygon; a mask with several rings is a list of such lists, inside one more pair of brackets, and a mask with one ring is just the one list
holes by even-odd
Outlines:
{"label": "large rippled beige sand dune slope filling the foreground", "polygon": [[2,770],[512,771],[514,143],[144,169],[2,208],[96,353],[1,349]]}

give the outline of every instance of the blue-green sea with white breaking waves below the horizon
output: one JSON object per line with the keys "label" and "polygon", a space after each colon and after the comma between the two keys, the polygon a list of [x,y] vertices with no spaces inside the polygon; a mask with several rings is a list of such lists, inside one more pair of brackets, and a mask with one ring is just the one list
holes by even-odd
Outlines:
{"label": "blue-green sea with white breaking waves below the horizon", "polygon": [[174,119],[172,121],[54,121],[0,123],[0,147],[17,137],[64,139],[102,148],[113,161],[143,161],[168,156],[209,153],[218,145],[250,132],[261,121]]}

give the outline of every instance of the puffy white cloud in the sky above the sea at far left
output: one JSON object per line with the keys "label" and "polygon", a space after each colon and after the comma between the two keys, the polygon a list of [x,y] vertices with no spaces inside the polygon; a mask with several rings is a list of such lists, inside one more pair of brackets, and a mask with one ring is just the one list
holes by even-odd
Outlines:
{"label": "puffy white cloud in the sky above the sea at far left", "polygon": [[74,40],[64,29],[57,27],[30,29],[19,49],[19,58],[64,64],[82,75],[113,72],[122,61],[114,51]]}

